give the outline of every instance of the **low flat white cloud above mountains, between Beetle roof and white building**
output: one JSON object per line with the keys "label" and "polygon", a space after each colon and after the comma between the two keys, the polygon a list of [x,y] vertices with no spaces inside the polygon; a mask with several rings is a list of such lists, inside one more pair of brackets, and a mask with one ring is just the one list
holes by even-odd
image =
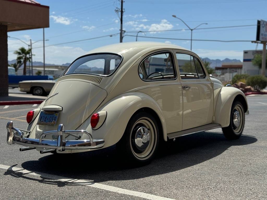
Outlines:
{"label": "low flat white cloud above mountains, between Beetle roof and white building", "polygon": [[243,51],[236,51],[236,50],[209,50],[209,49],[195,49],[194,52],[198,54],[200,57],[205,58],[236,58],[242,59]]}

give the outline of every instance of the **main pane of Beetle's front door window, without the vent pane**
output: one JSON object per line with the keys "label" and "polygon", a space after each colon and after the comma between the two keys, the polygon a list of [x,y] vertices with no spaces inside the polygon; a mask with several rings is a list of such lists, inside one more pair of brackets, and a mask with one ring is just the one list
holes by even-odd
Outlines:
{"label": "main pane of Beetle's front door window, without the vent pane", "polygon": [[194,58],[189,54],[176,53],[181,79],[198,78]]}

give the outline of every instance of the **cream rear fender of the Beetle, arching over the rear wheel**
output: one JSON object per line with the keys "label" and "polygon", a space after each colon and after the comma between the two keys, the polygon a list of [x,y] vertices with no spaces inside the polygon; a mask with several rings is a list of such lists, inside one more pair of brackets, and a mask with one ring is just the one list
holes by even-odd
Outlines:
{"label": "cream rear fender of the Beetle, arching over the rear wheel", "polygon": [[121,94],[97,109],[96,112],[107,111],[107,118],[99,129],[92,130],[91,116],[81,125],[81,129],[92,133],[94,139],[104,139],[104,147],[112,146],[122,137],[132,115],[144,107],[148,107],[158,114],[163,129],[163,137],[167,141],[166,123],[158,103],[147,94],[139,92]]}

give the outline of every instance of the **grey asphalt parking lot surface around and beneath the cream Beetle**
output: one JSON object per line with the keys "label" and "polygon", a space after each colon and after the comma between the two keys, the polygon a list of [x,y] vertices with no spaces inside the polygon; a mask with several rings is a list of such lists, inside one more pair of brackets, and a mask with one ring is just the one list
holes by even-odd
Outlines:
{"label": "grey asphalt parking lot surface around and beneath the cream Beetle", "polygon": [[0,106],[0,199],[267,199],[267,96],[248,96],[243,135],[221,129],[160,147],[149,165],[131,167],[115,146],[41,155],[6,143],[6,123],[26,129],[38,105]]}

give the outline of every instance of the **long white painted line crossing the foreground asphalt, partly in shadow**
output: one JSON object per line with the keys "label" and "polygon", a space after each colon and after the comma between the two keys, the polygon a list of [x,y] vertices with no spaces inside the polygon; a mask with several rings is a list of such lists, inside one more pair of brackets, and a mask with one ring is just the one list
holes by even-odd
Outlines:
{"label": "long white painted line crossing the foreground asphalt, partly in shadow", "polygon": [[147,193],[143,193],[143,192],[137,192],[137,191],[127,190],[127,189],[121,189],[119,187],[113,187],[113,186],[104,185],[104,184],[101,184],[101,183],[89,182],[89,181],[82,180],[82,179],[66,178],[66,177],[62,177],[62,176],[46,174],[46,173],[41,173],[41,172],[36,172],[36,171],[28,171],[28,170],[25,170],[23,168],[18,168],[18,167],[11,167],[11,166],[1,165],[0,164],[0,168],[1,169],[6,169],[6,170],[11,170],[11,171],[14,171],[14,172],[15,171],[19,171],[20,173],[27,174],[27,175],[33,175],[33,176],[38,176],[38,177],[41,176],[41,177],[44,177],[44,178],[54,179],[54,180],[57,180],[57,181],[69,182],[69,183],[72,183],[72,184],[76,183],[77,185],[85,185],[85,186],[89,186],[89,187],[95,187],[95,188],[102,189],[102,190],[108,190],[108,191],[116,192],[116,193],[119,193],[119,194],[126,194],[126,195],[135,196],[135,197],[141,197],[141,198],[144,198],[144,199],[174,200],[174,199],[170,199],[170,198],[166,198],[166,197],[156,196],[156,195],[153,195],[153,194],[147,194]]}

